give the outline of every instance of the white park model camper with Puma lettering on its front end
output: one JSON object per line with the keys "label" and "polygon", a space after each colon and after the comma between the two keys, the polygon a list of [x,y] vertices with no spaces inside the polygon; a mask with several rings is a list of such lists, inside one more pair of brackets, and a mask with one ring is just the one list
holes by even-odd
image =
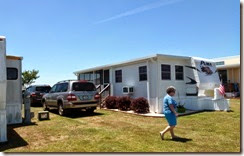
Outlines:
{"label": "white park model camper with Puma lettering on its front end", "polygon": [[229,101],[217,89],[220,80],[215,63],[208,59],[156,54],[74,74],[79,80],[94,82],[104,98],[147,98],[151,113],[163,113],[168,86],[176,87],[176,101],[189,110],[229,110]]}

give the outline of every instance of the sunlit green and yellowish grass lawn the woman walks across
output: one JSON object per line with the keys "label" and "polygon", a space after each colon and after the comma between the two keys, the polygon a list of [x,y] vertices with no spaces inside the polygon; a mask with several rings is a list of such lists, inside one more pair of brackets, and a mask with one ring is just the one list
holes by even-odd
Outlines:
{"label": "sunlit green and yellowish grass lawn the woman walks across", "polygon": [[167,123],[164,118],[142,117],[109,110],[94,115],[76,113],[51,120],[8,127],[5,152],[240,152],[240,100],[231,100],[230,112],[202,112],[178,118],[172,141],[159,136]]}

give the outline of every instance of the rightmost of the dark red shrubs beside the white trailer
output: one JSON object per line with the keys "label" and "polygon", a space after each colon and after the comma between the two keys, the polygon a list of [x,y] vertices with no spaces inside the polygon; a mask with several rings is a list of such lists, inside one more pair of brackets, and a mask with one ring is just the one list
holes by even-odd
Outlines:
{"label": "rightmost of the dark red shrubs beside the white trailer", "polygon": [[149,104],[147,99],[140,97],[134,99],[131,103],[131,108],[136,113],[148,113],[149,112]]}

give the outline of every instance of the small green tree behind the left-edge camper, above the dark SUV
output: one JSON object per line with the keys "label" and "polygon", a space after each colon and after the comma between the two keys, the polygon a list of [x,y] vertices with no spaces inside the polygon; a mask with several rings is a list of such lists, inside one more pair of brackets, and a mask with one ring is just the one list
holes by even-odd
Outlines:
{"label": "small green tree behind the left-edge camper, above the dark SUV", "polygon": [[38,79],[40,76],[38,76],[39,71],[33,69],[31,70],[26,70],[22,73],[22,85],[31,85],[32,83],[35,82],[36,79]]}

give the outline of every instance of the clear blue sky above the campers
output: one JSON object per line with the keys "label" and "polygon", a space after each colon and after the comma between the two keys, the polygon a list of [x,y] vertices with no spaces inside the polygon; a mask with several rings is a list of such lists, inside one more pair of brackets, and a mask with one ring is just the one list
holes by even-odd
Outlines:
{"label": "clear blue sky above the campers", "polygon": [[240,53],[238,0],[0,0],[7,53],[23,56],[36,83],[155,53]]}

